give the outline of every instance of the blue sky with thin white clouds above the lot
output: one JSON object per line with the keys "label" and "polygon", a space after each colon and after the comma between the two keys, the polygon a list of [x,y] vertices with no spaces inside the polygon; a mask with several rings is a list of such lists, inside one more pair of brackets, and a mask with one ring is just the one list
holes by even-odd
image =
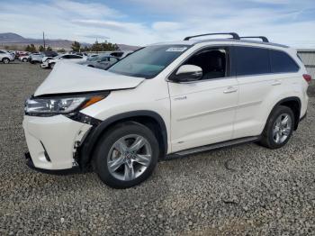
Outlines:
{"label": "blue sky with thin white clouds above the lot", "polygon": [[0,32],[24,37],[146,45],[205,32],[266,35],[315,48],[314,0],[11,0],[0,4]]}

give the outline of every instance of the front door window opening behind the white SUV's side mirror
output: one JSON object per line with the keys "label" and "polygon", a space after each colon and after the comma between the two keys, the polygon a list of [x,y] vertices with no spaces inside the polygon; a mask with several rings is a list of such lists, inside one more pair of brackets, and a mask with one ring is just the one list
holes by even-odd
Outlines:
{"label": "front door window opening behind the white SUV's side mirror", "polygon": [[206,49],[196,52],[184,65],[194,65],[202,68],[202,78],[211,79],[227,76],[227,50]]}

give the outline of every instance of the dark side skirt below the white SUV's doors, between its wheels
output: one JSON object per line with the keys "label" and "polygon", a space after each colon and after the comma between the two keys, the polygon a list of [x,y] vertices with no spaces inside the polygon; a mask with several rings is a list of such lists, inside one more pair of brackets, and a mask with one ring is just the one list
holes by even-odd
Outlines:
{"label": "dark side skirt below the white SUV's doors, between its wheels", "polygon": [[222,142],[213,143],[213,144],[209,144],[209,145],[205,145],[202,147],[197,147],[197,148],[193,148],[193,149],[189,149],[189,150],[180,150],[180,151],[177,151],[175,153],[168,154],[165,159],[183,158],[183,157],[186,157],[186,156],[189,156],[192,154],[201,153],[201,152],[205,152],[205,151],[209,151],[209,150],[218,150],[221,148],[235,146],[235,145],[239,145],[239,144],[244,144],[247,142],[259,141],[260,138],[261,138],[260,136],[252,136],[252,137],[235,139],[235,140],[231,140],[231,141],[222,141]]}

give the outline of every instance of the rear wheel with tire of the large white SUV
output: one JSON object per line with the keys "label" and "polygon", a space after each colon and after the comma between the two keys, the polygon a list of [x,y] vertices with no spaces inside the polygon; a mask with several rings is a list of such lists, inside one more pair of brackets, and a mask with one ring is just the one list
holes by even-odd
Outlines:
{"label": "rear wheel with tire of the large white SUV", "polygon": [[289,107],[277,106],[269,115],[260,144],[272,150],[284,147],[292,136],[294,122],[294,113]]}

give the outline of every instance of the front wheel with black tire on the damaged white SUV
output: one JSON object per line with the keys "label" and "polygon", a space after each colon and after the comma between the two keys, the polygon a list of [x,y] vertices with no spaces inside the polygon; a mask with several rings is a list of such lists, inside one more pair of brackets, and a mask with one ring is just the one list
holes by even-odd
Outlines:
{"label": "front wheel with black tire on the damaged white SUV", "polygon": [[121,123],[106,132],[98,142],[94,169],[107,186],[128,188],[152,174],[158,155],[157,138],[148,127],[134,122]]}

